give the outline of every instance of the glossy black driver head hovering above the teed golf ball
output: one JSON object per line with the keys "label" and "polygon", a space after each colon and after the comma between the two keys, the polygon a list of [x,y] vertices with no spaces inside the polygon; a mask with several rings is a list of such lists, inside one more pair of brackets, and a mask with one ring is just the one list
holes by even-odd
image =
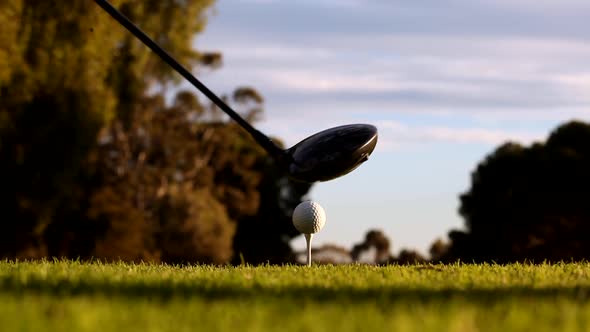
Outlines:
{"label": "glossy black driver head hovering above the teed golf ball", "polygon": [[289,176],[298,181],[328,181],[365,162],[377,145],[377,128],[351,124],[326,129],[297,143],[290,156]]}

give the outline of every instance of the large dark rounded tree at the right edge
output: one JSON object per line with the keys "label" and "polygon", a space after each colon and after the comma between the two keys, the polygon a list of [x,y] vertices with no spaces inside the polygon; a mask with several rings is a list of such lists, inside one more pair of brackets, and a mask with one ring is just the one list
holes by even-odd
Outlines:
{"label": "large dark rounded tree at the right edge", "polygon": [[590,257],[590,125],[572,121],[547,141],[506,143],[472,174],[461,195],[465,231],[452,231],[447,259],[511,262]]}

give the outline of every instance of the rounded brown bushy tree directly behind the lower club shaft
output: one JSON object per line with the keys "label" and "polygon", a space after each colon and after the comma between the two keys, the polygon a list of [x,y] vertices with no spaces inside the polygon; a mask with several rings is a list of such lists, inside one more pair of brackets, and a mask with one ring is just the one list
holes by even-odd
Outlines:
{"label": "rounded brown bushy tree directly behind the lower club shaft", "polygon": [[[279,191],[291,187],[279,180],[284,174],[272,159],[235,124],[201,120],[207,110],[186,91],[170,107],[161,96],[146,97],[142,105],[147,109],[131,114],[128,129],[120,123],[105,128],[93,175],[102,186],[118,188],[130,201],[129,211],[138,209],[152,225],[128,229],[131,239],[143,233],[149,240],[151,234],[154,240],[143,242],[144,252],[153,248],[150,257],[166,262],[224,263],[232,257],[236,262],[234,253],[246,253],[251,263],[285,261],[288,243],[273,245],[282,243],[285,233],[295,235],[285,232],[291,223],[283,210],[298,204],[301,194],[281,198]],[[276,189],[265,189],[279,182]],[[119,229],[116,219],[107,221],[105,232],[111,229]],[[249,239],[251,231],[257,237]],[[257,252],[260,243],[264,250]]]}

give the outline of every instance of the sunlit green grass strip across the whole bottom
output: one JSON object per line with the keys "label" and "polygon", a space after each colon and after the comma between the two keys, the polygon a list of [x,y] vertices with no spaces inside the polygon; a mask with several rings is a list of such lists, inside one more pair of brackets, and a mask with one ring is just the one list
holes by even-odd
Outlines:
{"label": "sunlit green grass strip across the whole bottom", "polygon": [[2,331],[590,331],[590,264],[0,262]]}

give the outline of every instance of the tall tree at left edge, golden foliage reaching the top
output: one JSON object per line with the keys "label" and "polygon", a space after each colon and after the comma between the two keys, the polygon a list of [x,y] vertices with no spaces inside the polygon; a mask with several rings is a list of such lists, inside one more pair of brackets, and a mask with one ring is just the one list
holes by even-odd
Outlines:
{"label": "tall tree at left edge, golden foliage reaching the top", "polygon": [[[211,1],[116,4],[181,60],[199,59],[192,36]],[[140,96],[122,88],[172,71],[91,1],[3,1],[0,22],[0,252],[44,255],[56,214],[83,204],[80,173],[98,131]]]}

